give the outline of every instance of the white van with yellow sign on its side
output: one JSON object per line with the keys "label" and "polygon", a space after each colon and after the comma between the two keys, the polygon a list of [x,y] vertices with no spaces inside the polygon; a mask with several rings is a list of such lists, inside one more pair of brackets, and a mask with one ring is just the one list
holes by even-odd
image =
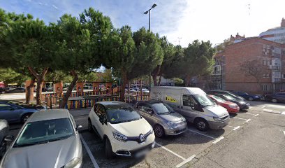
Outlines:
{"label": "white van with yellow sign on its side", "polygon": [[228,125],[228,111],[198,87],[155,86],[150,99],[166,102],[198,130],[218,130]]}

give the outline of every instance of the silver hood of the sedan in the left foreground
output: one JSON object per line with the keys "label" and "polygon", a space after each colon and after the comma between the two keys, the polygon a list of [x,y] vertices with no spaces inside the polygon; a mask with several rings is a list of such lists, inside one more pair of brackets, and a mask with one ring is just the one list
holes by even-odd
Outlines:
{"label": "silver hood of the sedan in the left foreground", "polygon": [[80,148],[78,135],[47,144],[10,148],[0,167],[63,167],[73,158],[78,157]]}

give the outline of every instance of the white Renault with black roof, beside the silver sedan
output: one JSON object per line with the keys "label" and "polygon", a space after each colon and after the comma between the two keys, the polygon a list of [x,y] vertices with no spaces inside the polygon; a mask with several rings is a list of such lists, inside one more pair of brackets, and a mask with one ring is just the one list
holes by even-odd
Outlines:
{"label": "white Renault with black roof, beside the silver sedan", "polygon": [[142,157],[154,148],[152,126],[124,102],[96,103],[89,113],[88,129],[103,140],[106,158]]}

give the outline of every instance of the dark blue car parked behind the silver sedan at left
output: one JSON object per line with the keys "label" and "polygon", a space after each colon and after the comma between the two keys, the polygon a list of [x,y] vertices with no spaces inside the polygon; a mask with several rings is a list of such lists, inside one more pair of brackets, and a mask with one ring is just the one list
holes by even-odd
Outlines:
{"label": "dark blue car parked behind the silver sedan at left", "polygon": [[8,123],[24,123],[32,113],[45,110],[44,106],[32,106],[13,100],[0,100],[0,118]]}

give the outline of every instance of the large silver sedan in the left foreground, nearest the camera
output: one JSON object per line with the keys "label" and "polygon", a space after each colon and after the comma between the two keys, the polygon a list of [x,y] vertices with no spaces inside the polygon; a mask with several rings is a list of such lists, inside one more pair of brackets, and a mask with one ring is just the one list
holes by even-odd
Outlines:
{"label": "large silver sedan in the left foreground, nearest the camera", "polygon": [[0,167],[81,167],[82,146],[73,117],[66,109],[39,111],[23,125]]}

